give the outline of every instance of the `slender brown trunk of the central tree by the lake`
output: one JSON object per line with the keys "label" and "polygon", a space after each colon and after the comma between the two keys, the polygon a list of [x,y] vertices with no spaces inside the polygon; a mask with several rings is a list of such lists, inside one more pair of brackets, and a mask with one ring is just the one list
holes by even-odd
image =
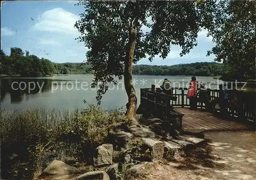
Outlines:
{"label": "slender brown trunk of the central tree by the lake", "polygon": [[126,117],[127,120],[133,121],[136,120],[136,105],[137,97],[136,92],[133,87],[133,57],[135,50],[135,38],[137,34],[136,26],[134,25],[135,18],[133,19],[130,30],[129,30],[129,42],[127,44],[127,51],[125,56],[125,65],[124,65],[124,86],[128,96],[128,103],[126,104]]}

